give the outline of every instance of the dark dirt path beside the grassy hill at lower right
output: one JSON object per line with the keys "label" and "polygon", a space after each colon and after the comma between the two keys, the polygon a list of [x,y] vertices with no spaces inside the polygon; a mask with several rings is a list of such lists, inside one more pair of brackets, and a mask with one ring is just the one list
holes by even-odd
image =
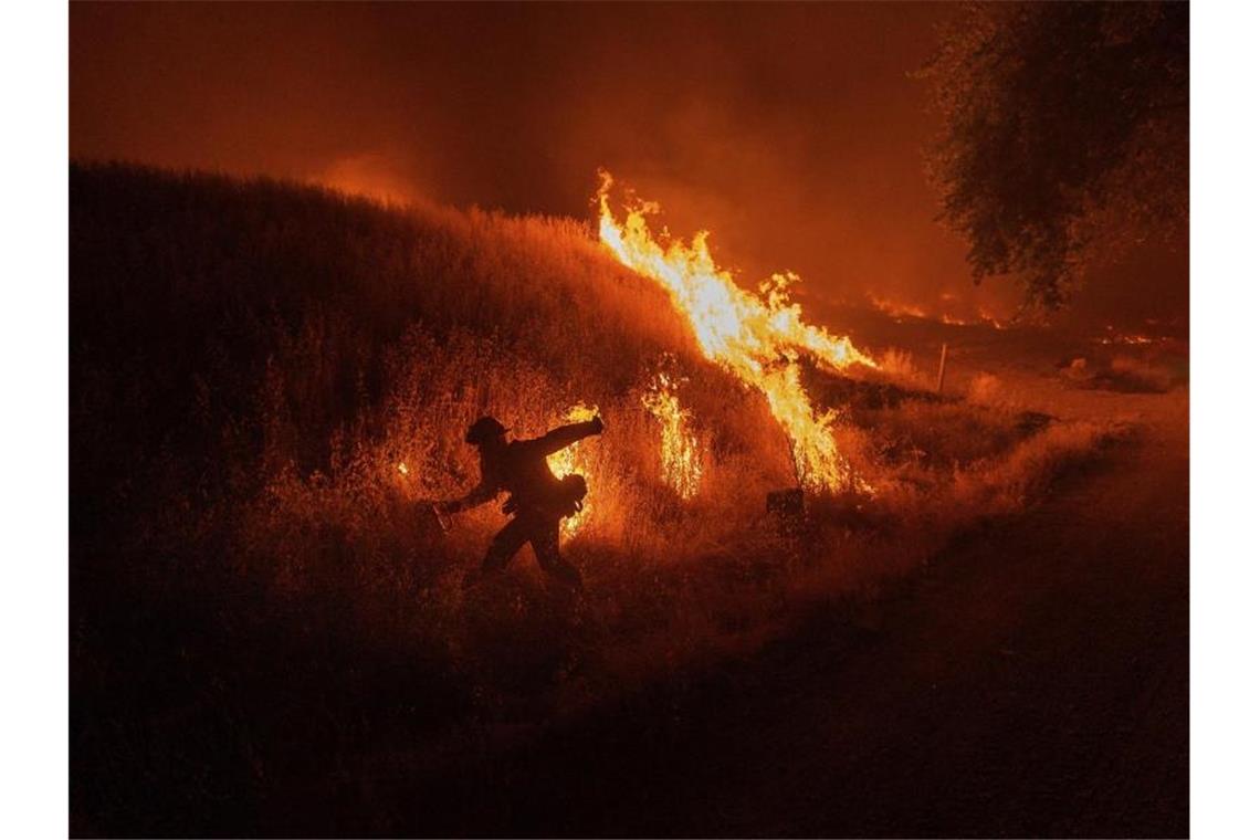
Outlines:
{"label": "dark dirt path beside the grassy hill at lower right", "polygon": [[412,827],[1187,835],[1188,504],[1184,432],[1150,424],[863,626],[818,615],[498,756],[444,788],[441,825]]}

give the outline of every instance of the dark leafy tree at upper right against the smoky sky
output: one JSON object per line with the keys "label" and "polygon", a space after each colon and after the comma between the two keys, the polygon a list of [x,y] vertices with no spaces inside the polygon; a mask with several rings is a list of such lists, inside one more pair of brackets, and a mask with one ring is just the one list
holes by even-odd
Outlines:
{"label": "dark leafy tree at upper right against the smoky sky", "polygon": [[976,283],[1056,310],[1086,264],[1184,233],[1188,4],[975,4],[940,34],[927,169]]}

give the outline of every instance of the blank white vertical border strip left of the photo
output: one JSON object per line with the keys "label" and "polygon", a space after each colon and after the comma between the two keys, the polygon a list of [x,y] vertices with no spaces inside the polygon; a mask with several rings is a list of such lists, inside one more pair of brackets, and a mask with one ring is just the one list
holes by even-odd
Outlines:
{"label": "blank white vertical border strip left of the photo", "polygon": [[68,831],[68,8],[0,14],[4,834]]}

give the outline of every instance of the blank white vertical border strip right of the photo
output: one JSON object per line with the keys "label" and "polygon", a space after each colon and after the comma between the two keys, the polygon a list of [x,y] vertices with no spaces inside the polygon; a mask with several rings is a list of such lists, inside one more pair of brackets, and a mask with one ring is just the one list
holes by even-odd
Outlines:
{"label": "blank white vertical border strip right of the photo", "polygon": [[1206,837],[1260,826],[1257,19],[1191,9],[1191,827]]}

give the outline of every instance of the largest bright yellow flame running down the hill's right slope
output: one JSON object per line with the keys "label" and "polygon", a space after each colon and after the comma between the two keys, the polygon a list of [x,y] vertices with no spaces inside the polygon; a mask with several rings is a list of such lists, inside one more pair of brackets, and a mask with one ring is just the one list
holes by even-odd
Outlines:
{"label": "largest bright yellow flame running down the hill's right slope", "polygon": [[795,275],[774,275],[762,283],[761,296],[752,295],[713,262],[704,232],[697,233],[690,246],[674,241],[663,247],[646,222],[655,207],[641,203],[627,207],[625,222],[619,224],[609,209],[612,178],[601,171],[600,179],[600,239],[622,264],[669,292],[707,359],[765,395],[790,441],[798,482],[811,490],[869,490],[837,451],[834,412],[816,412],[805,394],[799,355],[808,353],[834,370],[853,364],[873,368],[876,363],[848,338],[804,322],[800,305],[788,300]]}

